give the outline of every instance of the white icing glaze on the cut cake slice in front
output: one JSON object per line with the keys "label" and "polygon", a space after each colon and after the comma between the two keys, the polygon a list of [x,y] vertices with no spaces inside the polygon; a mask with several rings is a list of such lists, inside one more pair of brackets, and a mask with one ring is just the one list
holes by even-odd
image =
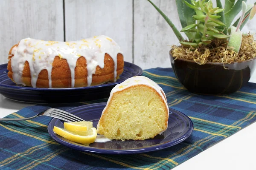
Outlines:
{"label": "white icing glaze on the cut cake slice in front", "polygon": [[[169,107],[168,107],[168,103],[167,103],[167,99],[166,99],[166,95],[163,91],[163,89],[157,85],[156,82],[154,82],[153,80],[149,79],[148,77],[144,77],[144,76],[135,76],[135,77],[131,77],[129,79],[126,79],[124,82],[116,85],[112,90],[111,90],[111,93],[110,93],[110,96],[108,98],[108,102],[107,102],[107,105],[105,106],[105,108],[103,109],[102,111],[102,114],[105,112],[106,108],[108,107],[109,105],[109,102],[113,96],[114,93],[116,93],[117,91],[122,91],[124,90],[125,88],[129,88],[131,86],[134,86],[134,85],[148,85],[149,87],[153,88],[154,90],[157,91],[157,93],[162,97],[163,101],[165,102],[165,105],[166,105],[166,108],[168,110],[168,113],[169,113]],[[102,116],[102,115],[101,115]],[[167,121],[167,127],[168,127],[168,121]],[[166,127],[166,129],[167,129]],[[97,125],[97,128],[99,128],[99,123]],[[165,130],[166,130],[165,129]],[[165,130],[163,130],[162,132],[160,132],[159,134],[163,133]]]}

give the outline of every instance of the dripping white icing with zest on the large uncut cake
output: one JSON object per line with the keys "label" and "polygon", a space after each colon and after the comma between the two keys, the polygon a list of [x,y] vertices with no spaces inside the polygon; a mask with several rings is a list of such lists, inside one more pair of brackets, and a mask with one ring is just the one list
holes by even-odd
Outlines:
{"label": "dripping white icing with zest on the large uncut cake", "polygon": [[22,82],[22,72],[25,62],[28,61],[32,87],[36,87],[39,73],[46,69],[49,88],[51,88],[52,62],[56,56],[59,56],[61,59],[67,59],[71,72],[71,87],[74,87],[76,61],[83,56],[87,61],[87,84],[90,86],[97,65],[104,68],[105,53],[109,54],[114,61],[114,81],[116,81],[117,54],[122,54],[122,51],[114,40],[105,35],[70,42],[26,38],[12,49],[12,77],[17,84],[25,85]]}

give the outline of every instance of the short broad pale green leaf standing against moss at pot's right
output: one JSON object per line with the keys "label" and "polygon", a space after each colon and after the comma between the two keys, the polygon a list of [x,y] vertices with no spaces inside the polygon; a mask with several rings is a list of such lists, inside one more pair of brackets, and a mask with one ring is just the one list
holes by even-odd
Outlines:
{"label": "short broad pale green leaf standing against moss at pot's right", "polygon": [[236,31],[236,27],[230,26],[230,28],[228,28],[228,34],[230,34],[230,40],[227,45],[228,48],[232,48],[233,51],[238,53],[241,47],[243,33]]}

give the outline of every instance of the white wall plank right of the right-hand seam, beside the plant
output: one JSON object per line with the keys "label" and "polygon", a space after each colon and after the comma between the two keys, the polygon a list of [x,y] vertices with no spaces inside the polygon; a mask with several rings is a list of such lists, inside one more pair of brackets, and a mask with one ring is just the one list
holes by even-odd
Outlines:
{"label": "white wall plank right of the right-hand seam, beside the plant", "polygon": [[[175,0],[152,0],[181,29]],[[171,67],[169,50],[179,41],[147,0],[134,0],[134,63],[143,69]]]}

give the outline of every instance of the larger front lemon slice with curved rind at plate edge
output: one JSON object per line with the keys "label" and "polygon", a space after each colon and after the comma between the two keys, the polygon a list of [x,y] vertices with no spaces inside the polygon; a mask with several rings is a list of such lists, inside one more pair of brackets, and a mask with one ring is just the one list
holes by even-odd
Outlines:
{"label": "larger front lemon slice with curved rind at plate edge", "polygon": [[60,127],[53,127],[53,132],[57,133],[59,136],[64,137],[73,142],[81,143],[81,144],[90,144],[93,143],[97,137],[97,130],[95,127],[92,127],[84,131],[71,132],[66,129],[62,129]]}

